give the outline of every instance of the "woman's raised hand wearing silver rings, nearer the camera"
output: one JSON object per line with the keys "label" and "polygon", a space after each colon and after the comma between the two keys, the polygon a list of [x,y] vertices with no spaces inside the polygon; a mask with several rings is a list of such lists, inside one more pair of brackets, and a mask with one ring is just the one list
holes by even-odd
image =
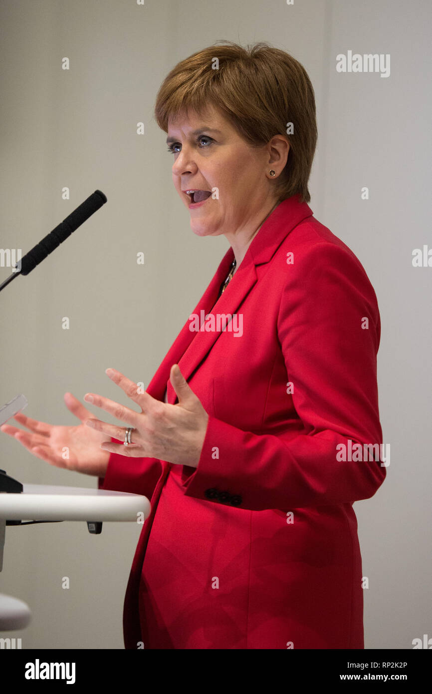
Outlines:
{"label": "woman's raised hand wearing silver rings, nearer the camera", "polygon": [[[105,409],[116,419],[133,427],[128,446],[106,441],[101,448],[126,457],[159,458],[176,465],[196,468],[200,460],[209,416],[187,381],[178,364],[173,364],[170,380],[178,397],[178,404],[169,405],[155,400],[148,393],[138,393],[138,386],[115,369],[105,372],[121,387],[128,398],[141,407],[141,412],[114,403],[95,393],[87,393],[84,400]],[[126,427],[107,424],[100,419],[87,419],[87,426],[104,432],[107,436],[123,441]]]}

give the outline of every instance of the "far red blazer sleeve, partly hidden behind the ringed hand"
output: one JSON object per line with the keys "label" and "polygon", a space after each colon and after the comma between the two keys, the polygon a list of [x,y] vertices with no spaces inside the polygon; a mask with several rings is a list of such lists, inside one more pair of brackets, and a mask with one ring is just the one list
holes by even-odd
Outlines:
{"label": "far red blazer sleeve, partly hidden behind the ringed hand", "polygon": [[[111,441],[123,443],[114,437]],[[98,477],[98,489],[143,494],[151,499],[161,472],[162,464],[157,458],[131,458],[111,453],[105,477]]]}

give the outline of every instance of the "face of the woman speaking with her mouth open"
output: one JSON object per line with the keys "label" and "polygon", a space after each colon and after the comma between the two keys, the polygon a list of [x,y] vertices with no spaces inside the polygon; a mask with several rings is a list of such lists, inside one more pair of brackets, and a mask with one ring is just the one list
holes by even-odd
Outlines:
{"label": "face of the woman speaking with her mouth open", "polygon": [[[196,235],[230,237],[248,230],[274,204],[266,177],[272,168],[268,147],[250,146],[215,108],[169,119],[166,142],[174,156],[173,183]],[[193,204],[185,192],[190,189],[210,195]]]}

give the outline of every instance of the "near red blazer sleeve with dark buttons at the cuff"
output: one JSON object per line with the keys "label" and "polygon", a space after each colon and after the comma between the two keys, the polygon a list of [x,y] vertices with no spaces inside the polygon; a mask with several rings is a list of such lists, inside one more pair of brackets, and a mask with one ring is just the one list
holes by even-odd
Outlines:
{"label": "near red blazer sleeve with dark buttons at the cuff", "polygon": [[[256,511],[373,496],[386,462],[379,447],[365,455],[363,444],[382,443],[380,330],[377,298],[355,255],[328,242],[309,248],[287,269],[277,317],[302,432],[260,435],[209,416],[198,467],[183,466],[184,493]],[[340,459],[340,445],[349,457],[356,443],[361,454]]]}

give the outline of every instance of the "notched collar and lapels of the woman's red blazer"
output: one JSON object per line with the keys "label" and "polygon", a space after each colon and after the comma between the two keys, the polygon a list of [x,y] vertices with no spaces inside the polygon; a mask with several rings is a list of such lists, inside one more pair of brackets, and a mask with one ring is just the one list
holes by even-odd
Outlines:
{"label": "notched collar and lapels of the woman's red blazer", "polygon": [[[232,248],[229,248],[209,286],[193,310],[193,314],[198,316],[200,325],[203,322],[201,320],[202,315],[213,314],[216,316],[216,314],[236,313],[257,282],[256,266],[269,262],[291,230],[306,217],[311,217],[312,214],[309,205],[300,202],[298,195],[279,203],[252,239],[229,287],[218,299],[221,284],[229,273],[234,260],[234,252]],[[201,313],[202,311],[204,314]],[[188,380],[205,359],[222,332],[222,330],[205,332],[204,325],[199,332],[192,332],[189,330],[190,325],[191,320],[188,319],[147,388],[147,392],[157,400],[164,399],[165,388],[167,388],[167,400],[171,405],[177,399],[171,382],[169,382],[171,366],[178,364],[184,378]]]}

